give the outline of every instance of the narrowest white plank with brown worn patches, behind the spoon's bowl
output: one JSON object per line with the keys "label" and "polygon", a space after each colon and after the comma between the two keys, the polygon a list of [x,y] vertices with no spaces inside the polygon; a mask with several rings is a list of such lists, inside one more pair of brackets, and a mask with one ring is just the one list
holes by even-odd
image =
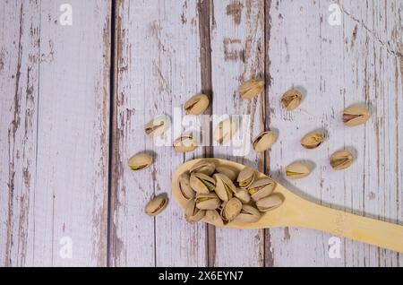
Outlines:
{"label": "narrowest white plank with brown worn patches, behind the spoon's bowl", "polygon": [[[211,7],[211,74],[213,114],[250,115],[245,130],[256,136],[264,128],[264,97],[243,100],[238,94],[241,82],[264,73],[264,2],[215,1]],[[249,136],[247,136],[249,145]],[[217,146],[214,156],[262,167],[263,156],[253,150],[235,157],[235,148]],[[263,231],[216,229],[215,266],[262,266]]]}

